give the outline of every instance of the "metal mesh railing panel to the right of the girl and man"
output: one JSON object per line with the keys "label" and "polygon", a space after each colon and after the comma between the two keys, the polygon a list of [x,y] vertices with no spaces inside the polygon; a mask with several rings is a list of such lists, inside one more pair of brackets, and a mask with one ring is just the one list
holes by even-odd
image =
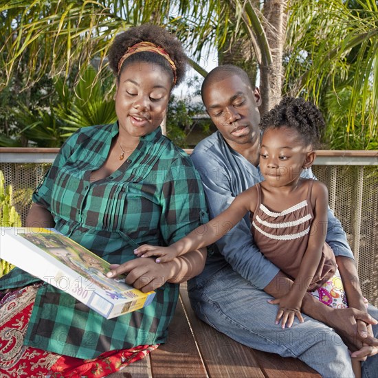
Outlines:
{"label": "metal mesh railing panel to the right of the girl and man", "polygon": [[362,292],[377,306],[377,166],[314,166],[313,171],[329,188],[330,206],[355,254]]}

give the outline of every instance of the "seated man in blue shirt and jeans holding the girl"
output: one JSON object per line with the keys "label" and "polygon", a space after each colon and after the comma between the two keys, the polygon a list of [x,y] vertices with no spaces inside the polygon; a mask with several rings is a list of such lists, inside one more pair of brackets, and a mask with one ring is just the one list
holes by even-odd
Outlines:
{"label": "seated man in blue shirt and jeans holding the girl", "polygon": [[[206,76],[202,99],[218,131],[194,148],[192,160],[214,217],[263,179],[258,168],[261,99],[245,71],[232,65],[216,67]],[[292,281],[260,253],[249,227],[245,216],[214,245],[203,273],[190,281],[189,296],[199,318],[247,346],[298,357],[323,377],[354,377],[348,348],[361,360],[374,355],[363,362],[362,371],[365,377],[377,377],[378,326],[370,324],[377,324],[373,318],[378,318],[378,310],[369,307],[371,318],[363,303],[333,309],[307,294],[304,322],[296,320],[291,329],[282,329],[275,324],[277,307],[268,300],[287,293]],[[360,294],[353,254],[331,211],[326,241],[340,271],[355,281]]]}

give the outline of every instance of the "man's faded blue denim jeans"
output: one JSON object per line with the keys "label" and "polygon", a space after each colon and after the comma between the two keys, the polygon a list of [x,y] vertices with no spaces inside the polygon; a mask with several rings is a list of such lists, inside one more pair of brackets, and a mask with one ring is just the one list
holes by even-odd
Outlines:
{"label": "man's faded blue denim jeans", "polygon": [[[257,289],[231,267],[223,268],[210,280],[189,282],[189,297],[197,316],[232,339],[260,351],[296,357],[326,378],[352,378],[348,348],[329,326],[303,315],[291,329],[274,324],[277,305],[265,291]],[[370,306],[370,315],[378,310]],[[373,327],[377,337],[378,326]],[[362,376],[378,377],[378,355],[368,357],[362,365]]]}

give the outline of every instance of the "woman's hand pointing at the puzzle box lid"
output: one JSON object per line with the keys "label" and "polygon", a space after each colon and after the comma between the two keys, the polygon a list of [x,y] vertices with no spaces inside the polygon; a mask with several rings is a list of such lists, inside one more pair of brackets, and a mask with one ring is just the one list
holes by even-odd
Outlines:
{"label": "woman's hand pointing at the puzzle box lid", "polygon": [[135,258],[121,265],[112,264],[107,277],[126,274],[126,284],[144,293],[163,286],[171,276],[170,263],[156,264],[152,258]]}

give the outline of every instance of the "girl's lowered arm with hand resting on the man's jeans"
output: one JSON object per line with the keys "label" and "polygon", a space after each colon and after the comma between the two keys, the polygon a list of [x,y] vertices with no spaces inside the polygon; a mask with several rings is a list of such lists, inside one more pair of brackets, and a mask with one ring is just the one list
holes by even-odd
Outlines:
{"label": "girl's lowered arm with hand resting on the man's jeans", "polygon": [[282,328],[285,328],[285,324],[291,327],[295,316],[303,322],[300,313],[302,300],[307,293],[307,289],[309,289],[322,258],[327,229],[328,190],[320,181],[313,182],[311,205],[313,206],[313,222],[311,223],[309,242],[300,263],[298,275],[287,295],[270,301],[274,304],[280,304],[276,324],[281,321]]}

